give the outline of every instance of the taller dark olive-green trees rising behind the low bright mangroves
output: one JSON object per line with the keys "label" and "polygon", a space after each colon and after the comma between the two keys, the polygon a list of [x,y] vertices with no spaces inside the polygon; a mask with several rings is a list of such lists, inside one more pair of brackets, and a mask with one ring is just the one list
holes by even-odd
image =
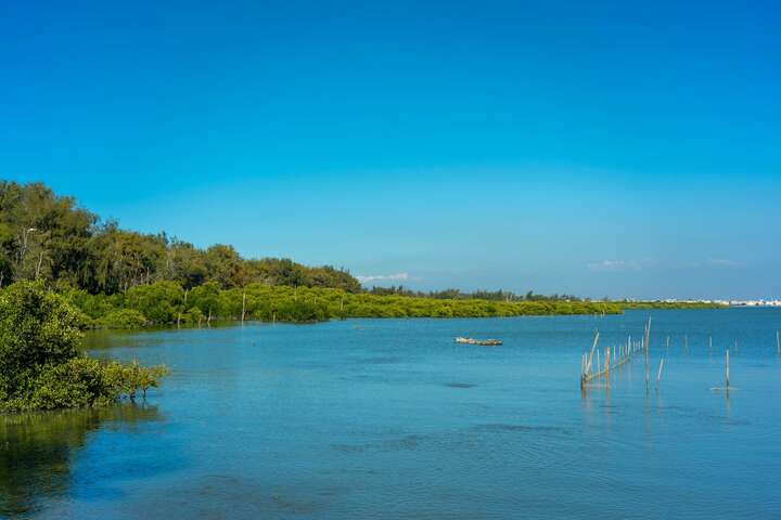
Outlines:
{"label": "taller dark olive-green trees rising behind the low bright mangroves", "polygon": [[361,290],[344,270],[247,260],[229,245],[204,250],[165,233],[121,230],[43,184],[0,181],[0,287],[23,280],[105,295],[161,281],[184,289],[215,282],[222,289],[264,283]]}

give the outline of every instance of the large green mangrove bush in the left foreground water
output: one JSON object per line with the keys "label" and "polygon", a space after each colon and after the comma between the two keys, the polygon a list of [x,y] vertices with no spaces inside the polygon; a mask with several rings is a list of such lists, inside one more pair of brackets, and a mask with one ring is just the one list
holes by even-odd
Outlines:
{"label": "large green mangrove bush in the left foreground water", "polygon": [[164,366],[84,355],[84,315],[35,282],[0,292],[0,412],[105,406],[156,387]]}

